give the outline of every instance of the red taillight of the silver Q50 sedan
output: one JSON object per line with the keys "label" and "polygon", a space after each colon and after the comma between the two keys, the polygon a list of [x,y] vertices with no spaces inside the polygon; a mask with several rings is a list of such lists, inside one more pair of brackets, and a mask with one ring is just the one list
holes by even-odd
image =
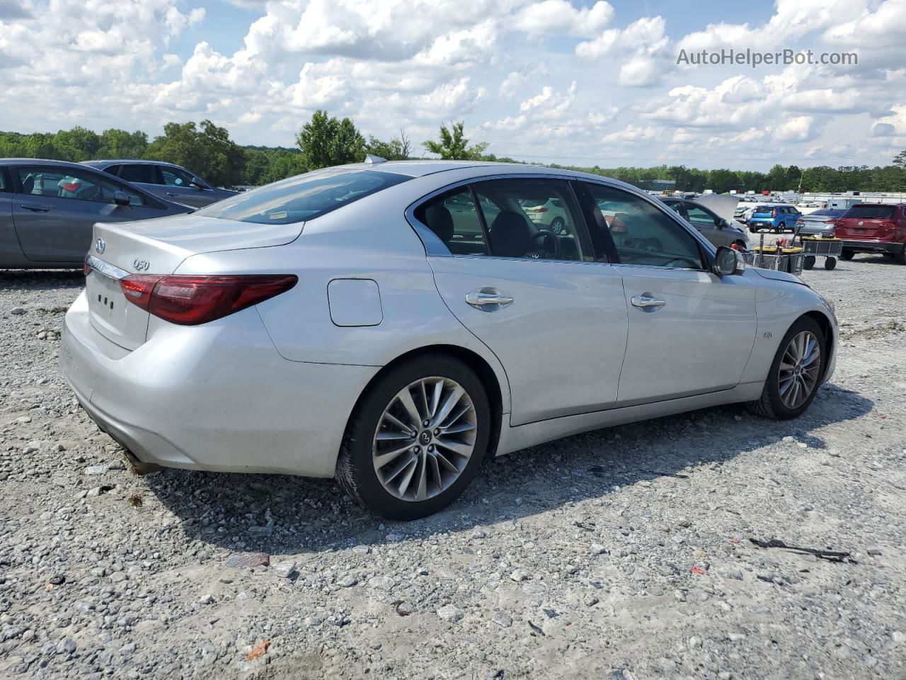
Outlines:
{"label": "red taillight of the silver Q50 sedan", "polygon": [[120,287],[127,300],[154,316],[199,325],[285,293],[298,280],[294,274],[131,274],[120,279]]}

